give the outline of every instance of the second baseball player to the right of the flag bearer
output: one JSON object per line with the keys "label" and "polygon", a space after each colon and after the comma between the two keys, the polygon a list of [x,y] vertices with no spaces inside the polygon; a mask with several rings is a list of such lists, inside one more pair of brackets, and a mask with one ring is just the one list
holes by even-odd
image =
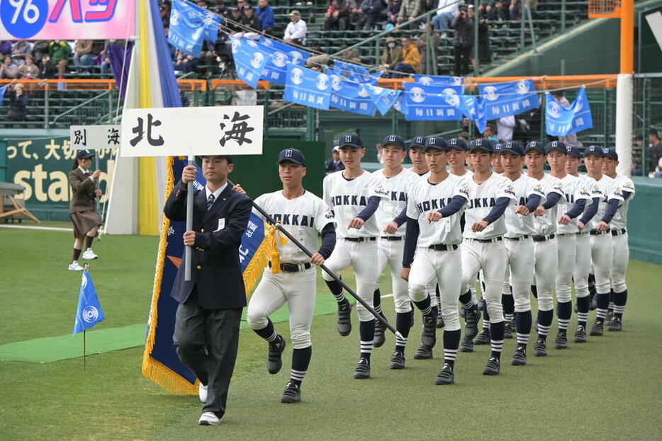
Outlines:
{"label": "second baseball player to the right of the flag bearer", "polygon": [[[389,134],[380,144],[381,157],[384,168],[373,173],[376,188],[372,195],[381,197],[379,207],[375,212],[377,227],[381,236],[377,241],[377,273],[391,266],[391,285],[393,287],[393,301],[395,302],[395,328],[400,331],[404,340],[395,340],[395,352],[391,360],[391,369],[405,367],[404,350],[407,344],[411,325],[412,307],[409,300],[407,282],[400,277],[403,261],[403,248],[405,246],[405,222],[399,214],[407,207],[408,193],[411,186],[420,179],[416,173],[406,170],[402,166],[407,154],[405,141],[397,134]],[[374,292],[375,310],[381,313],[381,298],[379,287]],[[384,343],[386,326],[380,320],[375,323],[374,345],[379,348]]]}

